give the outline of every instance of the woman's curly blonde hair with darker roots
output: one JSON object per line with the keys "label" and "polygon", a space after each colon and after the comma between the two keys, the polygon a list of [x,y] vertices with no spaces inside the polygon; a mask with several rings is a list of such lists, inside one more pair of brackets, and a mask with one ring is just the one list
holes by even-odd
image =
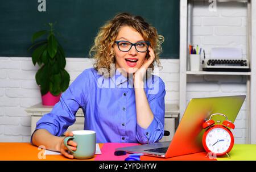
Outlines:
{"label": "woman's curly blonde hair with darker roots", "polygon": [[[150,46],[155,52],[155,60],[148,68],[154,71],[154,62],[160,66],[159,54],[162,53],[161,44],[164,41],[164,37],[158,35],[156,28],[145,22],[141,16],[134,16],[126,12],[115,15],[112,20],[106,22],[98,31],[89,52],[89,56],[96,60],[93,67],[96,70],[101,68],[108,69],[110,73],[110,64],[115,63],[114,41],[117,38],[119,28],[122,26],[134,28],[141,33],[144,40],[150,41]],[[147,56],[149,55],[147,54]],[[112,74],[110,73],[110,75]]]}

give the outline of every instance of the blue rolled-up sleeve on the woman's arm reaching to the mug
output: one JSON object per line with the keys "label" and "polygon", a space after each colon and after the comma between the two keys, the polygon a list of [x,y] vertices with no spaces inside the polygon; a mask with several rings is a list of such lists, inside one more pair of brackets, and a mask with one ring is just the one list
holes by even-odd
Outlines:
{"label": "blue rolled-up sleeve on the woman's arm reaching to the mug", "polygon": [[69,125],[75,123],[77,110],[83,107],[87,101],[88,96],[85,92],[85,87],[89,84],[88,80],[89,78],[86,77],[85,72],[81,73],[68,89],[61,94],[60,101],[55,104],[52,111],[42,116],[36,123],[35,131],[37,129],[46,129],[52,135],[63,135]]}

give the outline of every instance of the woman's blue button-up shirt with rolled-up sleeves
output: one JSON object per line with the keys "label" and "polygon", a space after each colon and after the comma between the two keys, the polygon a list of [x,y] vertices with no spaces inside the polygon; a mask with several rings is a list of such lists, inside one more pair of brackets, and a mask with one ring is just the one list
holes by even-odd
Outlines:
{"label": "woman's blue button-up shirt with rolled-up sleeves", "polygon": [[148,128],[137,124],[133,79],[123,77],[118,70],[106,78],[94,68],[86,69],[61,94],[52,111],[36,123],[36,129],[61,136],[75,123],[76,112],[82,108],[84,129],[96,131],[97,142],[156,142],[164,133],[164,82],[151,75],[144,90],[154,114]]}

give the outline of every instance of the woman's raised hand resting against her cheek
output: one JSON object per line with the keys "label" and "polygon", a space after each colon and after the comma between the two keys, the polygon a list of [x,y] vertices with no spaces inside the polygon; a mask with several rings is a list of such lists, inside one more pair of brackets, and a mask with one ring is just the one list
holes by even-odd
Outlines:
{"label": "woman's raised hand resting against her cheek", "polygon": [[145,58],[144,62],[141,66],[141,68],[139,68],[137,70],[137,72],[134,73],[133,75],[133,82],[134,82],[134,86],[136,88],[143,88],[144,87],[144,82],[143,82],[143,78],[147,72],[147,68],[151,65],[151,63],[155,60],[155,53],[154,50],[151,47],[148,47],[148,54],[150,55],[150,57]]}

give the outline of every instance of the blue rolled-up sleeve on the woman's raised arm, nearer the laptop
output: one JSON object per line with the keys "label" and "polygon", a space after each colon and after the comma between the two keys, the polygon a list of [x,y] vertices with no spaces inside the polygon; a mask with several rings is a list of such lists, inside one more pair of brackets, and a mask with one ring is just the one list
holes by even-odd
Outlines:
{"label": "blue rolled-up sleeve on the woman's raised arm, nearer the laptop", "polygon": [[154,119],[146,128],[137,124],[136,138],[141,144],[150,144],[162,139],[164,134],[164,96],[166,95],[165,85],[162,79],[154,83],[154,87],[159,86],[155,94],[148,95],[148,104],[154,114]]}

